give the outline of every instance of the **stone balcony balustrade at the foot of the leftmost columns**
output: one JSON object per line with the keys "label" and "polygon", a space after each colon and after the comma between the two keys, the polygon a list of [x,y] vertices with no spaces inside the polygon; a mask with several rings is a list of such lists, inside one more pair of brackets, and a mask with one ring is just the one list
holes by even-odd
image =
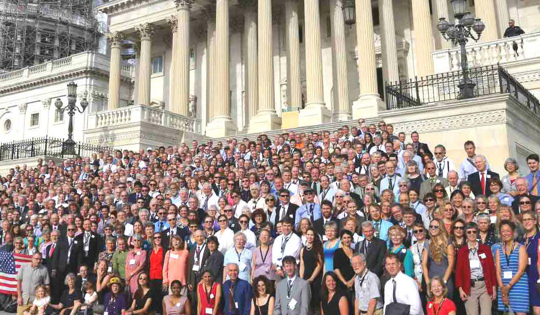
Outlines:
{"label": "stone balcony balustrade at the foot of the leftmost columns", "polygon": [[172,128],[179,131],[201,133],[200,121],[175,114],[164,109],[149,106],[133,105],[117,109],[91,113],[88,116],[88,128],[108,128],[129,126],[133,124],[149,124]]}

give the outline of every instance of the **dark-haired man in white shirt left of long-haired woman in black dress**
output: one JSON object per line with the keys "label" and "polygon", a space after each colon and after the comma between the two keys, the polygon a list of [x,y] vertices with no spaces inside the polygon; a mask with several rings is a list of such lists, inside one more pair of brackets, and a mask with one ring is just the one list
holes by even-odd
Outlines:
{"label": "dark-haired man in white shirt left of long-haired woman in black dress", "polygon": [[302,240],[293,233],[293,223],[288,218],[281,221],[282,234],[277,236],[272,246],[272,264],[275,267],[276,275],[284,277],[281,260],[285,256],[293,256],[296,264],[300,263],[300,249]]}

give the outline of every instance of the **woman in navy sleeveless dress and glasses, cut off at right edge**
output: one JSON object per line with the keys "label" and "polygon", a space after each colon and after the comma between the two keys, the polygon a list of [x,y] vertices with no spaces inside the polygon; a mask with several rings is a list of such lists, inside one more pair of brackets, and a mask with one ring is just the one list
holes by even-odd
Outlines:
{"label": "woman in navy sleeveless dress and glasses, cut off at right edge", "polygon": [[531,211],[525,211],[521,214],[521,222],[523,222],[523,234],[522,244],[527,249],[527,255],[529,259],[527,261],[527,276],[529,277],[529,299],[532,306],[532,313],[540,314],[540,294],[536,286],[538,280],[538,239],[540,233],[538,232],[538,225],[536,216]]}

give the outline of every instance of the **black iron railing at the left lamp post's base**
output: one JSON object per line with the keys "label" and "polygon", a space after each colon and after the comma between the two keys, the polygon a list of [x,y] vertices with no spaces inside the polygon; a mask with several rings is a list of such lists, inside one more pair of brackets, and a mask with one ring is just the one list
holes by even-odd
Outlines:
{"label": "black iron railing at the left lamp post's base", "polygon": [[[71,158],[73,155],[65,154],[65,139],[32,138],[22,141],[2,143],[0,145],[0,161],[33,158],[35,156],[51,156],[53,158]],[[112,148],[89,145],[88,143],[76,142],[75,153],[83,158],[90,157],[92,153],[100,150],[112,150]]]}

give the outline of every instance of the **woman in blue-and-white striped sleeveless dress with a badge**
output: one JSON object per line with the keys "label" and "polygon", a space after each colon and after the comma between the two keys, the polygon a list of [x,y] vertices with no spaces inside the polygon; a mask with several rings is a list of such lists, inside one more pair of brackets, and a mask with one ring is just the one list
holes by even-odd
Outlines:
{"label": "woman in blue-and-white striped sleeveless dress with a badge", "polygon": [[500,225],[501,246],[495,254],[497,270],[498,310],[513,311],[516,315],[529,312],[529,277],[527,250],[514,239],[516,224],[504,220]]}

